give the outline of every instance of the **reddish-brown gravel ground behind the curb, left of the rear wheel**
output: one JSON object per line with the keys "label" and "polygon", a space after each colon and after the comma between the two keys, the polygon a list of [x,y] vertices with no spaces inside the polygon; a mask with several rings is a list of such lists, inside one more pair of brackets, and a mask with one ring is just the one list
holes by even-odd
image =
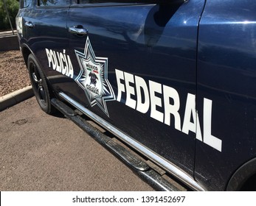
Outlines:
{"label": "reddish-brown gravel ground behind the curb, left of the rear wheel", "polygon": [[0,96],[30,85],[21,51],[0,51]]}

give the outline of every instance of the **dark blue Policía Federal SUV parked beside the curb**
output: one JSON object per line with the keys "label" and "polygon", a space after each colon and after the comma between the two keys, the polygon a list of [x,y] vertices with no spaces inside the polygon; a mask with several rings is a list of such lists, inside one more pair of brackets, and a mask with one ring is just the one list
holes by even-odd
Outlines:
{"label": "dark blue Polic\u00eda Federal SUV parked beside the curb", "polygon": [[255,0],[21,0],[16,25],[46,113],[60,110],[156,190],[252,191],[255,10]]}

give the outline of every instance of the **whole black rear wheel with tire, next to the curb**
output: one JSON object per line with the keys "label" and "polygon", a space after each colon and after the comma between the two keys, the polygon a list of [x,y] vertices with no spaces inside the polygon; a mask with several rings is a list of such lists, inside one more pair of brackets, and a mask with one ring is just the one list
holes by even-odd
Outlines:
{"label": "whole black rear wheel with tire, next to the curb", "polygon": [[55,108],[52,107],[49,88],[46,82],[46,77],[38,65],[33,54],[30,54],[27,60],[27,68],[30,74],[30,82],[35,93],[35,98],[38,101],[41,109],[47,114],[55,113]]}

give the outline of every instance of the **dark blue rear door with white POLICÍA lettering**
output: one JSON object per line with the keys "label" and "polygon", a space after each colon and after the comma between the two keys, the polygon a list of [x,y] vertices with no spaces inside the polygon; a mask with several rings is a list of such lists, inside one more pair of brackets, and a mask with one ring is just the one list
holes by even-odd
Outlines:
{"label": "dark blue rear door with white POLIC\u00cdA lettering", "polygon": [[22,11],[26,13],[20,20],[24,23],[22,43],[32,51],[44,74],[52,82],[63,72],[61,57],[68,62],[66,18],[70,1],[40,0],[32,3],[33,9]]}

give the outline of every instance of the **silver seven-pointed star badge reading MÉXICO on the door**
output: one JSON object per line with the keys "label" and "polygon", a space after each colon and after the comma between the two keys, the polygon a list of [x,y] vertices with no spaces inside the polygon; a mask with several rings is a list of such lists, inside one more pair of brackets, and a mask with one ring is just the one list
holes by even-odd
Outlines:
{"label": "silver seven-pointed star badge reading M\u00c9XICO on the door", "polygon": [[97,104],[109,117],[107,101],[115,100],[114,91],[108,82],[108,58],[95,57],[89,37],[83,52],[75,50],[80,73],[75,81],[86,93],[86,97],[93,107]]}

